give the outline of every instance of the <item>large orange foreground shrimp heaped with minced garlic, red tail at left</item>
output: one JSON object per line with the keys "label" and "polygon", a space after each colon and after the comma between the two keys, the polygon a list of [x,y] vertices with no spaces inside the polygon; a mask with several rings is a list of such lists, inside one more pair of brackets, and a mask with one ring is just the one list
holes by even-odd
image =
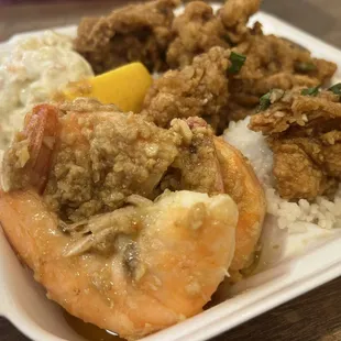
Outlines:
{"label": "large orange foreground shrimp heaped with minced garlic, red tail at left", "polygon": [[160,196],[183,140],[90,100],[28,116],[4,156],[0,222],[47,297],[127,339],[202,310],[239,215],[221,180],[213,196]]}

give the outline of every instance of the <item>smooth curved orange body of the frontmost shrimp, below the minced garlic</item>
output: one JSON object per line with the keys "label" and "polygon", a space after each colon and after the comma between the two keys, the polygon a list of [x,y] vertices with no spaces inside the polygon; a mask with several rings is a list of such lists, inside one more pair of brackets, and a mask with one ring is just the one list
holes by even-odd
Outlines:
{"label": "smooth curved orange body of the frontmost shrimp, below the minced garlic", "polygon": [[146,210],[141,230],[119,235],[112,254],[65,256],[70,235],[36,193],[0,193],[1,226],[47,297],[129,340],[202,310],[233,257],[238,221],[228,195],[166,193],[136,209]]}

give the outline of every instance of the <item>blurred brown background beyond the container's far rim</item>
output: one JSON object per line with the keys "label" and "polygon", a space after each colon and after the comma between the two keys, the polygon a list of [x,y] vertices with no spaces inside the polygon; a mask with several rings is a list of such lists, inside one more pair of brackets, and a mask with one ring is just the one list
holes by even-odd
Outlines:
{"label": "blurred brown background beyond the container's far rim", "polygon": [[[11,35],[77,24],[84,15],[106,14],[134,0],[0,0],[0,41]],[[268,13],[341,47],[341,0],[264,0]]]}

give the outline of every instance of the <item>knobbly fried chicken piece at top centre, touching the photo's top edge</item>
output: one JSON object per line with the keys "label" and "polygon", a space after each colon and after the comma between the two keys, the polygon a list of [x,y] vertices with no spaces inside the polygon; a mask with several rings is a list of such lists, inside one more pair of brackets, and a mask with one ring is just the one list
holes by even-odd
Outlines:
{"label": "knobbly fried chicken piece at top centre, touching the photo's top edge", "polygon": [[229,0],[215,14],[212,8],[204,1],[190,2],[184,13],[173,21],[175,38],[167,50],[168,66],[184,67],[191,64],[196,55],[213,46],[228,48],[245,40],[249,16],[258,7],[260,0]]}

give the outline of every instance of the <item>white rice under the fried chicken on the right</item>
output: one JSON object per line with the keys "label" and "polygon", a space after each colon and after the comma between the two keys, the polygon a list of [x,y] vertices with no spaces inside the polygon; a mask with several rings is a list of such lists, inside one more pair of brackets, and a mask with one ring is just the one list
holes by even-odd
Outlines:
{"label": "white rice under the fried chicken on the right", "polygon": [[250,118],[231,122],[223,136],[250,160],[264,187],[267,213],[277,218],[278,228],[293,233],[304,232],[307,222],[323,229],[341,228],[341,187],[333,201],[326,197],[318,197],[314,202],[300,199],[297,204],[282,199],[274,188],[273,153],[262,133],[248,129],[249,122]]}

